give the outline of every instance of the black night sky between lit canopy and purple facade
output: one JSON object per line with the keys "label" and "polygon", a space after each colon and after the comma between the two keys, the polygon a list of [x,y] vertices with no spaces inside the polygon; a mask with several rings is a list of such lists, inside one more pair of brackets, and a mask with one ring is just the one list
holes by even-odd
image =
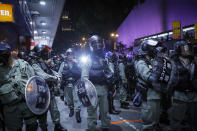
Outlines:
{"label": "black night sky between lit canopy and purple facade", "polygon": [[[63,49],[81,38],[98,34],[109,38],[129,12],[145,0],[66,0],[62,14],[69,11],[69,22],[60,19],[53,49]],[[73,31],[62,32],[63,26],[71,25]]]}

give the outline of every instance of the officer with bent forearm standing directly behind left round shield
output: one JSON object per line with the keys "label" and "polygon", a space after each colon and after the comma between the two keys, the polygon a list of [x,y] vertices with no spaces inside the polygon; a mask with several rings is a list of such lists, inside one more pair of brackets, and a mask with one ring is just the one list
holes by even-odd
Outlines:
{"label": "officer with bent forearm standing directly behind left round shield", "polygon": [[[48,51],[46,50],[45,46],[39,47],[39,45],[34,47],[34,51],[37,55],[37,60],[33,63],[32,67],[35,71],[35,74],[37,76],[40,76],[44,80],[46,80],[51,93],[51,102],[49,105],[49,111],[51,114],[51,118],[53,120],[53,123],[55,124],[55,131],[64,131],[64,129],[60,124],[60,112],[57,107],[55,95],[53,92],[55,83],[57,83],[60,80],[60,77],[58,76],[58,73],[51,70],[47,64],[46,61],[48,60]],[[39,122],[40,127],[43,131],[47,130],[47,112],[43,115],[39,116]]]}

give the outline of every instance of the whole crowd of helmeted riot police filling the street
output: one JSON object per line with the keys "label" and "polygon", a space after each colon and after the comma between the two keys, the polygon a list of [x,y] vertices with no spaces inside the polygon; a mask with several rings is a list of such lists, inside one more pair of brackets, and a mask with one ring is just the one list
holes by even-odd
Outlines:
{"label": "whole crowd of helmeted riot police filling the street", "polygon": [[[109,130],[110,114],[119,114],[114,97],[119,92],[120,107],[129,109],[129,101],[141,107],[141,129],[162,131],[161,115],[166,113],[169,131],[181,131],[183,121],[197,131],[197,61],[196,46],[186,40],[174,43],[168,50],[157,39],[146,39],[134,57],[124,53],[105,52],[103,40],[94,35],[89,38],[89,52],[76,59],[69,48],[65,55],[50,56],[44,46],[35,46],[30,52],[11,53],[7,43],[0,43],[0,130],[47,131],[47,112],[50,112],[55,131],[66,131],[60,124],[60,112],[55,96],[59,95],[81,123],[81,107],[87,106],[87,131]],[[50,57],[49,57],[50,56]],[[34,114],[26,104],[25,87],[32,76],[46,81],[50,89],[50,105],[41,115]],[[91,105],[88,90],[75,91],[75,83],[90,80],[97,93],[96,105]],[[83,85],[82,85],[83,86]],[[84,88],[87,89],[88,87]],[[99,115],[97,116],[97,109]],[[61,112],[65,113],[65,112]]]}

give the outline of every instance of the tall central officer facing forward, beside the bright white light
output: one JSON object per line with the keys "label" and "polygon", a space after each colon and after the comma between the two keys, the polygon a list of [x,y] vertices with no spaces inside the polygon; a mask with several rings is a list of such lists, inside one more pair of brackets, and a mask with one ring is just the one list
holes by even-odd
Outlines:
{"label": "tall central officer facing forward, beside the bright white light", "polygon": [[112,73],[112,71],[108,65],[108,62],[104,58],[104,43],[102,39],[97,35],[93,35],[89,39],[89,46],[91,50],[91,64],[82,67],[82,77],[89,77],[89,80],[95,85],[98,95],[98,104],[96,107],[90,106],[87,108],[87,131],[96,130],[98,106],[102,130],[108,131],[110,118],[107,115],[107,78],[109,77],[106,77],[106,73]]}

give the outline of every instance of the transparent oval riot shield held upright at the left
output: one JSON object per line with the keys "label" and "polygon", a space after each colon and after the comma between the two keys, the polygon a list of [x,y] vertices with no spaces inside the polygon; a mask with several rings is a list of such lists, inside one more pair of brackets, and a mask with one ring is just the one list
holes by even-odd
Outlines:
{"label": "transparent oval riot shield held upright at the left", "polygon": [[39,76],[31,77],[25,87],[25,99],[34,114],[45,113],[50,104],[50,90],[45,80]]}

